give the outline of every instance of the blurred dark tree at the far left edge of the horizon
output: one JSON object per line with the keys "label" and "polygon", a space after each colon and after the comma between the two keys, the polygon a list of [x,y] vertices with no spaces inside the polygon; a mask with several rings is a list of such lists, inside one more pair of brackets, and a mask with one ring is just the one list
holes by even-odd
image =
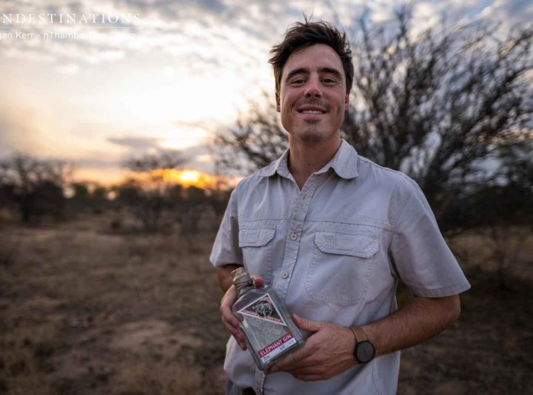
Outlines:
{"label": "blurred dark tree at the far left edge of the horizon", "polygon": [[63,191],[73,168],[52,161],[17,153],[0,161],[0,190],[4,204],[14,204],[23,222],[49,214],[56,220],[64,215]]}

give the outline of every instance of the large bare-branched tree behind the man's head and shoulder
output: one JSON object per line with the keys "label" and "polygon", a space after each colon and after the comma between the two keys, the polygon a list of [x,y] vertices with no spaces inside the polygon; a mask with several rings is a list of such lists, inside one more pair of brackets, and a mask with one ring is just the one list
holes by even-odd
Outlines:
{"label": "large bare-branched tree behind the man's head and shoulder", "polygon": [[[363,15],[351,33],[355,83],[342,136],[360,155],[416,179],[438,219],[509,137],[533,139],[533,26],[501,40],[497,27],[443,24],[415,36],[404,7],[387,28]],[[286,146],[272,103],[219,132],[214,153],[221,171],[243,174]]]}

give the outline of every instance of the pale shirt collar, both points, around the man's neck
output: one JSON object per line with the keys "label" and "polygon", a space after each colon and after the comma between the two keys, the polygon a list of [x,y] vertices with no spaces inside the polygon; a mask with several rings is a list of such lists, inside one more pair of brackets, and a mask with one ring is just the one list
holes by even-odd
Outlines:
{"label": "pale shirt collar, both points, around the man's neck", "polygon": [[[257,173],[258,175],[264,176],[264,177],[270,177],[274,175],[275,173],[278,173],[279,175],[283,177],[289,177],[289,169],[288,169],[288,153],[289,150],[287,149],[279,159],[276,161],[273,161],[268,166],[262,168]],[[335,155],[331,160],[315,172],[315,174],[322,174],[326,173],[330,168],[333,168],[335,173],[341,178],[344,179],[352,179],[358,176],[357,172],[357,152],[356,150],[349,145],[344,139],[341,139],[340,147],[335,152]]]}

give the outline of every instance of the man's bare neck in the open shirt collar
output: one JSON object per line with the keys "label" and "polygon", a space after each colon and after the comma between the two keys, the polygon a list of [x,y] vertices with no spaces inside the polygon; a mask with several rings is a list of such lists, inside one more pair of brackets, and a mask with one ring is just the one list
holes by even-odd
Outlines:
{"label": "man's bare neck in the open shirt collar", "polygon": [[311,174],[326,166],[335,156],[340,143],[340,139],[320,143],[302,143],[289,139],[288,168],[300,190]]}

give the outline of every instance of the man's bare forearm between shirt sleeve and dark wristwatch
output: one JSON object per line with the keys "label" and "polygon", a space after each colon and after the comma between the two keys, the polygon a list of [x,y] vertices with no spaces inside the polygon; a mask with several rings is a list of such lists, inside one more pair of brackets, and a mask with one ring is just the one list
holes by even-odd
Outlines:
{"label": "man's bare forearm between shirt sleeve and dark wristwatch", "polygon": [[461,312],[459,295],[414,297],[401,310],[362,326],[376,347],[376,356],[406,349],[448,328]]}

